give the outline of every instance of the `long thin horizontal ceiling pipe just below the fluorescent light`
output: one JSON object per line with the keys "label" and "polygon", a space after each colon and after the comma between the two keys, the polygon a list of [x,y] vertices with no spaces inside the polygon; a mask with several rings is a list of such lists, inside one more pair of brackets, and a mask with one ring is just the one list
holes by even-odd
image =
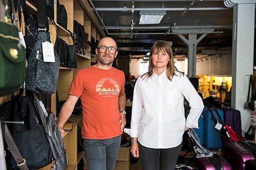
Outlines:
{"label": "long thin horizontal ceiling pipe just below the fluorescent light", "polygon": [[[169,26],[156,26],[156,27],[140,27],[140,26],[134,26],[133,29],[134,30],[166,30],[166,29],[170,29],[171,27]],[[174,29],[180,29],[180,28],[214,28],[214,29],[218,29],[218,28],[227,28],[230,29],[232,28],[232,25],[223,25],[223,26],[173,26],[172,28]],[[131,27],[129,26],[116,26],[116,27],[112,27],[112,26],[106,26],[106,29],[108,30],[130,30]]]}

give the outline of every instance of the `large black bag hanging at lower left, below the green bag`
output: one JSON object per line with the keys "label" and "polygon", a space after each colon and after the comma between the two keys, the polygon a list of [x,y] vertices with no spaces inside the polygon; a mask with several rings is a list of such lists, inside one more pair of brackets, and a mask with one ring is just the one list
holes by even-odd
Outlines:
{"label": "large black bag hanging at lower left, below the green bag", "polygon": [[[8,124],[8,128],[17,148],[26,160],[28,168],[38,169],[52,161],[52,151],[44,128],[38,123],[32,102],[27,96],[22,96],[22,92],[13,96],[12,100],[2,106],[0,116],[4,122],[16,122],[16,124]],[[7,167],[8,169],[18,169],[8,148],[5,149]]]}

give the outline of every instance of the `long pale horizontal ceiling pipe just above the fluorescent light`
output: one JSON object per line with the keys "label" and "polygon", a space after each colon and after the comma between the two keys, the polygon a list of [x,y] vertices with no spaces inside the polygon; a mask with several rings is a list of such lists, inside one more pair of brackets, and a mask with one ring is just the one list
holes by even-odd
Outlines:
{"label": "long pale horizontal ceiling pipe just above the fluorescent light", "polygon": [[[89,0],[91,1],[91,0]],[[96,8],[97,11],[121,11],[123,8]],[[127,11],[184,11],[186,8],[127,8]],[[202,7],[202,8],[189,8],[188,11],[216,11],[216,10],[230,10],[226,7]]]}

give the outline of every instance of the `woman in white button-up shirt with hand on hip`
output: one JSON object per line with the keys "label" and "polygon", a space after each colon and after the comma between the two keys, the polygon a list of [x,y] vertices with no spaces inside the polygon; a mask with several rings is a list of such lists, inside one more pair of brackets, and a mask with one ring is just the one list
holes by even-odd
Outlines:
{"label": "woman in white button-up shirt with hand on hip", "polygon": [[[188,78],[174,65],[172,48],[156,41],[151,48],[148,72],[138,78],[133,96],[131,153],[140,157],[143,170],[175,169],[188,128],[198,128],[204,105]],[[185,119],[184,97],[191,107]]]}

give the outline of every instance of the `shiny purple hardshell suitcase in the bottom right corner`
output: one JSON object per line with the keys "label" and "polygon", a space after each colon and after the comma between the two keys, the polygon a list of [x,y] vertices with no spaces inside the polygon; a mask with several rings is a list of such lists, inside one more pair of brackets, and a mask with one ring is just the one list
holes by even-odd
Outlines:
{"label": "shiny purple hardshell suitcase in the bottom right corner", "polygon": [[243,147],[242,145],[244,144],[246,143],[240,141],[227,142],[224,145],[223,157],[231,163],[233,170],[245,170],[245,162],[250,159],[255,159],[254,154],[256,153],[253,154],[254,151]]}

